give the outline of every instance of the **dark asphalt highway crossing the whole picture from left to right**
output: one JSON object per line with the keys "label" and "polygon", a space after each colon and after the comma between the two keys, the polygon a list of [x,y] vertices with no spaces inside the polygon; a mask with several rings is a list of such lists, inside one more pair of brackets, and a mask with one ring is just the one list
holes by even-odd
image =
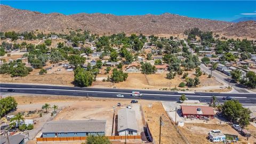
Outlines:
{"label": "dark asphalt highway crossing the whole picture from left to right", "polygon": [[[8,92],[13,89],[15,92]],[[132,97],[132,91],[140,91],[142,97]],[[128,89],[101,89],[93,87],[71,87],[52,85],[28,85],[28,84],[6,84],[0,83],[0,94],[11,95],[12,93],[26,94],[49,94],[49,95],[70,95],[82,97],[116,98],[117,94],[124,95],[124,99],[145,99],[159,101],[177,101],[181,94],[185,94],[189,100],[210,102],[212,96],[217,97],[219,102],[224,102],[222,97],[232,97],[246,105],[255,105],[256,93],[209,93],[209,92],[174,92],[174,91],[152,91],[152,90],[128,90]]]}

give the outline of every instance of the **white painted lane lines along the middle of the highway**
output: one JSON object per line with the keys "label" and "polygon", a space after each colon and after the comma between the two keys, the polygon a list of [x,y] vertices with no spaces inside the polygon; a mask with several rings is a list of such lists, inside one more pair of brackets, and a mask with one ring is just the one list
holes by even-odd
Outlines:
{"label": "white painted lane lines along the middle of the highway", "polygon": [[[12,88],[6,88],[6,87],[1,87],[0,89],[12,89]],[[124,93],[124,92],[100,92],[100,91],[81,91],[81,90],[60,90],[60,89],[28,89],[28,88],[16,88],[17,90],[46,90],[47,92],[54,92],[54,91],[66,91],[66,92],[90,92],[90,93],[116,93],[116,94],[131,94],[131,93]],[[173,96],[173,97],[180,97],[180,95],[174,95],[174,94],[151,94],[151,93],[143,93],[143,95],[155,95],[155,96],[163,96],[163,97],[168,97],[168,96]],[[212,98],[212,96],[204,96],[204,95],[186,95],[186,97],[198,97],[198,98]],[[216,98],[223,98],[223,97],[216,97]],[[247,97],[231,97],[235,99],[247,99]]]}

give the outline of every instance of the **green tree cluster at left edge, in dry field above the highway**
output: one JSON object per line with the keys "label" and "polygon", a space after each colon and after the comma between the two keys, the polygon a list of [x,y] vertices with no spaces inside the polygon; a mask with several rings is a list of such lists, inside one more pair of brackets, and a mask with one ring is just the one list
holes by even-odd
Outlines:
{"label": "green tree cluster at left edge, in dry field above the highway", "polygon": [[10,74],[11,77],[27,76],[32,70],[32,68],[25,67],[25,63],[22,63],[21,60],[3,63],[0,66],[0,74]]}

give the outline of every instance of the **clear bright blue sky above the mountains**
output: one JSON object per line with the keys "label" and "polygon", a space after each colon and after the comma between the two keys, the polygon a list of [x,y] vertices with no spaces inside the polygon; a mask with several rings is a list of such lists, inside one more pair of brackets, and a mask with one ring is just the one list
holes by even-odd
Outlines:
{"label": "clear bright blue sky above the mountains", "polygon": [[17,9],[42,13],[173,13],[193,18],[232,21],[256,17],[256,1],[0,1]]}

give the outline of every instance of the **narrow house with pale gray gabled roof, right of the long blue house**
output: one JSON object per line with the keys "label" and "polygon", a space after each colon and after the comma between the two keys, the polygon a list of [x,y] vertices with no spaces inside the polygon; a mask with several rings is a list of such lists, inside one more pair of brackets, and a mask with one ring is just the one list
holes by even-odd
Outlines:
{"label": "narrow house with pale gray gabled roof, right of the long blue house", "polygon": [[138,126],[134,110],[124,108],[118,111],[117,131],[119,135],[137,135]]}

